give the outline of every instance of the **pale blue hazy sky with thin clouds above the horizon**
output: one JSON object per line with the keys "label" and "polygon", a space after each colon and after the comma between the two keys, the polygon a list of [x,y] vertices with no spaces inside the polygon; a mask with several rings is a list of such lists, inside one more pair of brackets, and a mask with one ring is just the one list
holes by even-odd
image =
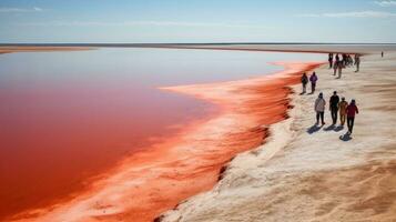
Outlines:
{"label": "pale blue hazy sky with thin clouds above the horizon", "polygon": [[0,42],[396,42],[396,0],[0,0]]}

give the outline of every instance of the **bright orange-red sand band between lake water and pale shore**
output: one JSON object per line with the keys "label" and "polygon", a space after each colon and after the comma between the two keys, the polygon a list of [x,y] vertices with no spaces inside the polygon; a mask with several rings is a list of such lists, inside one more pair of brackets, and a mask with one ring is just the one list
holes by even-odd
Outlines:
{"label": "bright orange-red sand band between lake water and pale shore", "polygon": [[285,71],[241,81],[164,88],[211,101],[221,112],[133,154],[75,199],[26,212],[14,220],[145,222],[210,190],[224,164],[263,143],[267,133],[263,125],[286,118],[288,85],[297,83],[302,72],[322,63],[277,64]]}

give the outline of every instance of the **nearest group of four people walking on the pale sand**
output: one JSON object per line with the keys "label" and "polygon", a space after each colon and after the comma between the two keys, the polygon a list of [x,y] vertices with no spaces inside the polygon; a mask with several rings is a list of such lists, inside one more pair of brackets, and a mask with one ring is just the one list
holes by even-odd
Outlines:
{"label": "nearest group of four people walking on the pale sand", "polygon": [[[319,124],[319,120],[322,121],[322,124],[325,124],[324,122],[325,107],[326,107],[326,101],[323,98],[323,93],[321,92],[315,101],[316,124]],[[341,125],[344,127],[345,119],[346,119],[348,133],[351,134],[355,123],[355,115],[358,113],[358,109],[356,107],[355,100],[352,100],[349,104],[345,101],[345,98],[342,98],[342,100],[339,101],[339,97],[337,95],[337,92],[334,91],[333,95],[329,99],[329,111],[332,114],[333,125],[337,123],[337,117],[339,112]]]}

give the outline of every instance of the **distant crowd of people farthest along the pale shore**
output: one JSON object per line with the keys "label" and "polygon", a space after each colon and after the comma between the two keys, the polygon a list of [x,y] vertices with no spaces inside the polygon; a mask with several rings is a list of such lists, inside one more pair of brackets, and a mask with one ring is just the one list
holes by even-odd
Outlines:
{"label": "distant crowd of people farthest along the pale shore", "polygon": [[333,74],[336,75],[338,72],[338,78],[342,77],[343,74],[343,69],[345,69],[346,67],[356,67],[355,72],[358,72],[361,69],[361,56],[359,54],[355,54],[354,59],[352,58],[351,54],[346,54],[346,53],[342,53],[339,56],[339,53],[336,53],[334,56],[334,53],[328,53],[328,68],[333,69]]}

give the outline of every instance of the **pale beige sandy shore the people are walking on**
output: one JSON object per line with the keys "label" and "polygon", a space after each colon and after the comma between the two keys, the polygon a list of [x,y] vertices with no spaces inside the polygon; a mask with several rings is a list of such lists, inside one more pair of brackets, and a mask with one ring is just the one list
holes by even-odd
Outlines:
{"label": "pale beige sandy shore the people are walking on", "polygon": [[[362,50],[364,51],[364,50]],[[210,192],[181,203],[162,221],[396,221],[396,53],[363,58],[362,71],[335,79],[323,65],[318,91],[356,99],[354,134],[314,128],[317,94],[294,93],[290,119],[267,142],[237,155]],[[331,122],[329,112],[325,119]]]}

